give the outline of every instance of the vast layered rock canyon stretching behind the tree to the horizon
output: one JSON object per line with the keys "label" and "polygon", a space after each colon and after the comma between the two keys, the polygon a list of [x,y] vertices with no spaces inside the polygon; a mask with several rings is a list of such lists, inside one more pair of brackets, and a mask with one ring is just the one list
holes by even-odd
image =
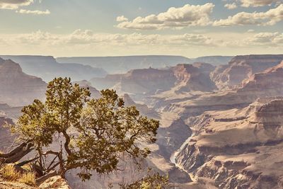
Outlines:
{"label": "vast layered rock canyon stretching behind the tree to the horizon", "polygon": [[[99,98],[98,90],[115,89],[126,106],[134,105],[141,115],[159,120],[160,128],[141,172],[128,162],[125,172],[86,183],[69,173],[71,187],[107,188],[112,182],[117,188],[126,178],[140,178],[148,167],[168,173],[172,188],[283,187],[283,55],[172,57],[163,64],[164,57],[151,58],[159,63],[130,65],[134,57],[111,57],[111,64],[102,67],[110,74],[76,77],[74,83],[90,88],[93,98]],[[101,59],[56,60],[100,67],[96,62]],[[124,73],[115,73],[110,66],[119,61],[123,63],[117,70]],[[0,142],[6,142],[0,150],[6,150],[12,138],[1,122],[16,122],[22,105],[43,98],[46,83],[4,59],[0,78],[5,89],[0,93]]]}

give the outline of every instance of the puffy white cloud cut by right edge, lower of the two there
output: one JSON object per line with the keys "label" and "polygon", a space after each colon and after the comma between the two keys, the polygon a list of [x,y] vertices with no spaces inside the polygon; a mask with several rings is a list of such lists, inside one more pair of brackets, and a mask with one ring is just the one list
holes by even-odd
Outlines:
{"label": "puffy white cloud cut by right edge, lower of the two there", "polygon": [[283,4],[276,8],[272,8],[266,12],[241,12],[226,19],[214,21],[214,26],[228,25],[275,25],[275,23],[283,20]]}

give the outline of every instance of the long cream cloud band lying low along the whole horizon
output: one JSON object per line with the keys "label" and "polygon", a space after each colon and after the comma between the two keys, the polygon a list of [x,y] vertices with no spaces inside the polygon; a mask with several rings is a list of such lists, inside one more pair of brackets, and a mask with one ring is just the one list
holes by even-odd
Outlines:
{"label": "long cream cloud band lying low along the whole horizon", "polygon": [[69,34],[42,31],[0,34],[2,54],[54,56],[107,55],[240,55],[280,53],[282,33],[185,33],[182,35],[145,35],[141,33],[94,33],[75,30]]}

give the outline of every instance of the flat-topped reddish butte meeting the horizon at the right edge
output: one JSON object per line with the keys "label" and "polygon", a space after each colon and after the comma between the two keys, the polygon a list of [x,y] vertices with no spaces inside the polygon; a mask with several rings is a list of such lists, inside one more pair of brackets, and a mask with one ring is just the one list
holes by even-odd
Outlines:
{"label": "flat-topped reddish butte meeting the horizon at the right edge", "polygon": [[219,88],[233,88],[255,73],[275,67],[283,60],[283,55],[236,56],[229,66],[219,66],[212,74],[212,80]]}

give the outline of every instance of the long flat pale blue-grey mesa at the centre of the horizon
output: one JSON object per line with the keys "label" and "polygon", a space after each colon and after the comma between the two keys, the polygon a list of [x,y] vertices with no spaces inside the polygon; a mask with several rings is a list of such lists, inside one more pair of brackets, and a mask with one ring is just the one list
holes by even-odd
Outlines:
{"label": "long flat pale blue-grey mesa at the centre of the horizon", "polygon": [[131,69],[147,69],[172,67],[177,64],[190,62],[187,57],[181,56],[125,56],[125,57],[59,57],[60,63],[79,63],[92,67],[101,67],[109,74],[122,74]]}

